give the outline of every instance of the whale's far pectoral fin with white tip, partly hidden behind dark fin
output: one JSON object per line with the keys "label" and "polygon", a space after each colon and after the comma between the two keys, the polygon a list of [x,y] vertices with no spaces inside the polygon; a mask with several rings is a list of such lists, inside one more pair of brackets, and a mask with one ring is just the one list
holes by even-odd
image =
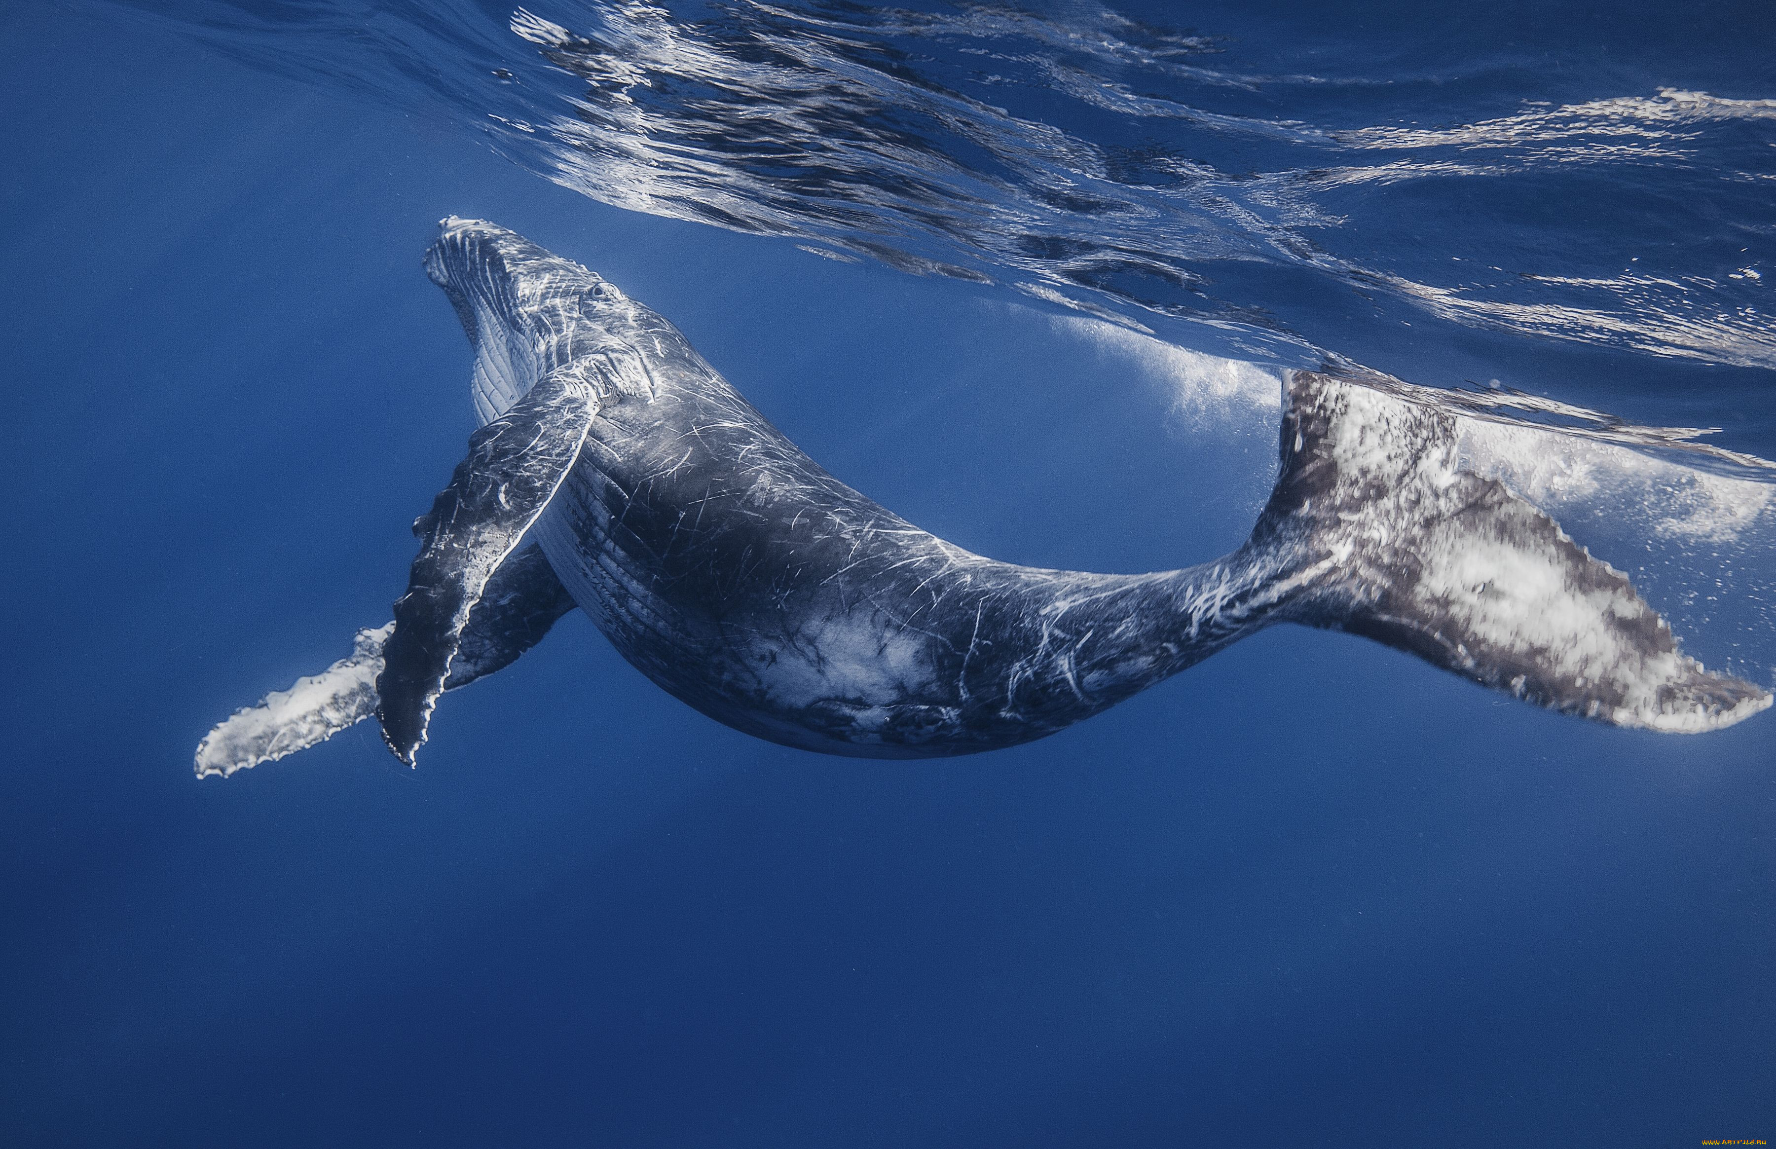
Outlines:
{"label": "whale's far pectoral fin with white tip, partly hidden behind dark fin", "polygon": [[[542,549],[535,543],[524,547],[481,591],[444,689],[455,691],[510,666],[572,609],[574,598]],[[218,723],[197,744],[197,776],[227,778],[261,762],[275,762],[371,717],[377,712],[382,648],[392,632],[392,622],[359,630],[348,657],[318,675],[297,678],[288,691],[272,691],[258,705]]]}

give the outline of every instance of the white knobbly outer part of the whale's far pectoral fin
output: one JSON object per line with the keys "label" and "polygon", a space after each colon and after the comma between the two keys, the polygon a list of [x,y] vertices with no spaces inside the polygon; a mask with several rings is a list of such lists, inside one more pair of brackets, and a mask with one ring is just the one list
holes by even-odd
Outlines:
{"label": "white knobbly outer part of the whale's far pectoral fin", "polygon": [[288,691],[272,691],[258,705],[242,707],[197,744],[197,776],[227,778],[261,762],[275,762],[377,712],[377,675],[382,645],[394,623],[357,632],[352,654],[318,675],[297,678]]}

